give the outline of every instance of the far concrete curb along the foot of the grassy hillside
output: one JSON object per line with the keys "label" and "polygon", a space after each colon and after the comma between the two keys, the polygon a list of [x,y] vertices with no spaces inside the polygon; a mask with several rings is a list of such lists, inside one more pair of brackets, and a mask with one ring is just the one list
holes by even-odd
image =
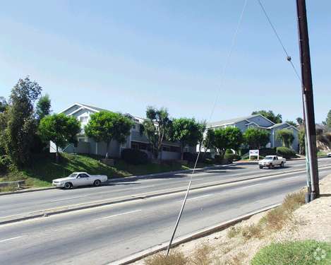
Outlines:
{"label": "far concrete curb along the foot of the grassy hillside", "polygon": [[[216,169],[219,167],[229,167],[230,165],[233,164],[227,164],[227,165],[213,165],[211,167],[203,167],[203,168],[197,168],[195,169],[195,172],[201,172],[203,170],[212,170]],[[116,177],[116,178],[111,178],[108,179],[107,183],[112,183],[112,182],[118,182],[118,181],[131,181],[131,180],[136,180],[136,179],[149,179],[152,177],[162,177],[162,176],[168,176],[168,175],[176,175],[180,173],[189,173],[192,172],[193,169],[191,170],[177,170],[177,171],[169,171],[169,172],[162,172],[162,173],[155,173],[155,174],[148,174],[148,175],[136,175],[136,176],[129,176],[129,177]],[[56,187],[44,187],[44,188],[37,188],[37,189],[23,189],[23,190],[18,190],[15,192],[0,192],[0,196],[2,195],[10,195],[10,194],[20,194],[20,193],[26,193],[26,192],[42,192],[47,189],[56,189]]]}

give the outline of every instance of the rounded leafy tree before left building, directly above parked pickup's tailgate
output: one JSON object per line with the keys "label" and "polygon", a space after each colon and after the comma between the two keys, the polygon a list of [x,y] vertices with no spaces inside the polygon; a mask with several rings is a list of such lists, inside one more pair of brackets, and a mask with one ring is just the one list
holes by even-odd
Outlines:
{"label": "rounded leafy tree before left building, directly above parked pickup's tailgate", "polygon": [[130,135],[133,122],[123,114],[109,111],[101,111],[90,116],[88,125],[85,126],[85,134],[96,142],[107,143],[106,158],[108,158],[109,144],[112,140],[124,143]]}

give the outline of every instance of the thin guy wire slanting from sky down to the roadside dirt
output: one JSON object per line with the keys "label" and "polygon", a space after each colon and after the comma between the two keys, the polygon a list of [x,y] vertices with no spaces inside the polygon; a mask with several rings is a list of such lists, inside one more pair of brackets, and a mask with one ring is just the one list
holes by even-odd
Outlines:
{"label": "thin guy wire slanting from sky down to the roadside dirt", "polygon": [[[230,49],[229,49],[229,54],[228,54],[228,56],[227,56],[227,61],[226,61],[226,63],[224,64],[224,67],[223,67],[223,69],[222,69],[222,73],[221,73],[220,86],[219,86],[219,89],[218,89],[218,91],[217,91],[217,96],[216,96],[216,98],[215,98],[214,104],[212,105],[212,110],[211,110],[211,112],[210,112],[210,117],[209,117],[209,121],[208,121],[208,122],[211,121],[211,119],[212,119],[212,115],[213,115],[214,112],[215,112],[216,103],[217,103],[217,101],[219,100],[219,95],[220,95],[220,93],[221,93],[221,88],[222,88],[222,85],[223,85],[224,76],[225,76],[225,73],[226,73],[227,67],[229,66],[229,61],[230,61],[230,58],[231,58],[232,52],[233,52],[233,50],[234,50],[234,45],[235,45],[235,43],[236,43],[236,38],[237,38],[237,35],[238,35],[238,33],[239,33],[239,28],[240,28],[240,25],[241,25],[241,21],[243,20],[243,13],[244,13],[244,11],[245,11],[245,9],[246,9],[247,1],[248,1],[248,0],[245,0],[244,3],[243,3],[243,8],[242,8],[242,10],[241,10],[241,14],[240,14],[240,16],[239,16],[239,21],[238,21],[238,23],[237,23],[237,25],[236,25],[236,30],[235,30],[235,32],[234,32],[234,37],[232,37],[231,47],[230,47]],[[176,234],[176,230],[177,230],[178,225],[179,225],[179,221],[181,220],[181,215],[182,215],[182,213],[183,213],[183,209],[184,209],[185,204],[186,204],[186,199],[187,199],[187,197],[188,197],[188,193],[190,192],[191,183],[192,183],[192,177],[193,177],[193,175],[194,175],[194,173],[195,173],[195,168],[196,168],[196,165],[198,164],[198,160],[199,160],[199,157],[200,157],[200,153],[201,153],[201,146],[200,146],[200,148],[199,148],[199,152],[198,152],[197,158],[196,158],[196,160],[195,160],[195,164],[194,164],[193,171],[192,171],[192,174],[191,174],[190,182],[188,182],[188,187],[187,187],[187,189],[186,189],[186,194],[185,194],[185,197],[184,197],[184,199],[183,199],[183,204],[181,205],[181,210],[179,211],[179,216],[178,216],[178,218],[177,218],[177,220],[176,220],[176,224],[175,224],[175,226],[174,226],[174,231],[172,232],[171,239],[170,239],[170,241],[169,241],[169,245],[168,245],[168,248],[167,248],[167,255],[169,254],[169,251],[170,251],[170,248],[171,248],[172,241],[174,240],[174,236],[175,236],[175,234]]]}

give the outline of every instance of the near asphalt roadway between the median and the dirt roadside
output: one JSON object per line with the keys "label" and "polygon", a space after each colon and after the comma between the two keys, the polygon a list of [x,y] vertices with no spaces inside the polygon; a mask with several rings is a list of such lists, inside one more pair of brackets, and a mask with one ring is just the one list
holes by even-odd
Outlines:
{"label": "near asphalt roadway between the median and the dirt roadside", "polygon": [[[322,169],[320,177],[330,173],[331,169]],[[141,181],[141,185],[148,186],[152,180]],[[195,190],[188,197],[176,236],[277,204],[305,184],[305,172],[296,172]],[[0,264],[107,264],[167,242],[183,195],[1,225]]]}

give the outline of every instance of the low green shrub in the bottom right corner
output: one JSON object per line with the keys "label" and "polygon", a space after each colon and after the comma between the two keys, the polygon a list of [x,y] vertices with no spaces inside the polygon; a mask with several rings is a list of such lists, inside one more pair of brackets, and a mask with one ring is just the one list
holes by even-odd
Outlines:
{"label": "low green shrub in the bottom right corner", "polygon": [[331,244],[315,240],[272,243],[255,254],[252,265],[330,264]]}

